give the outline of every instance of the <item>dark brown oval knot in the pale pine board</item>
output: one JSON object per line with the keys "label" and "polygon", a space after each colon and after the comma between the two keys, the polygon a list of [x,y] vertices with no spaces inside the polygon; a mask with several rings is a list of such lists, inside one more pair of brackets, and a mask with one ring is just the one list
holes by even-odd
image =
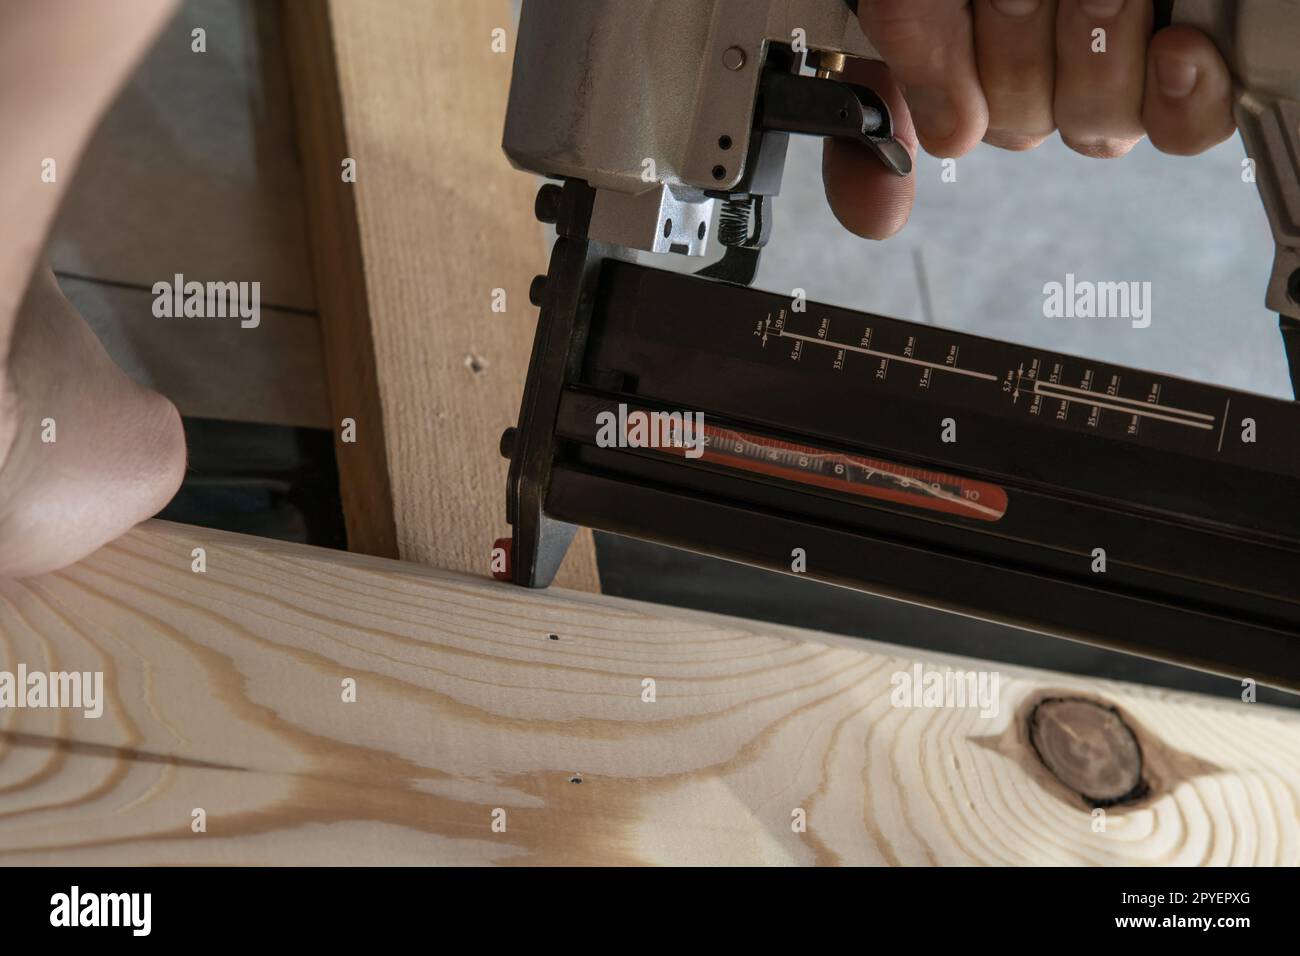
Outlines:
{"label": "dark brown oval knot in the pale pine board", "polygon": [[1084,697],[1046,697],[1030,711],[1028,731],[1043,766],[1093,806],[1145,796],[1141,745],[1114,708]]}

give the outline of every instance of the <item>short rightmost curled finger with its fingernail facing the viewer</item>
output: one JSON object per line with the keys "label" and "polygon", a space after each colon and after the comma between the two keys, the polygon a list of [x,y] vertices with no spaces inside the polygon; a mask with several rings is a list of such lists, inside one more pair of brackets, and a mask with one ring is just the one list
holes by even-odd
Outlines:
{"label": "short rightmost curled finger with its fingernail facing the viewer", "polygon": [[1152,36],[1141,116],[1154,147],[1179,156],[1232,135],[1232,75],[1200,30],[1171,26]]}

